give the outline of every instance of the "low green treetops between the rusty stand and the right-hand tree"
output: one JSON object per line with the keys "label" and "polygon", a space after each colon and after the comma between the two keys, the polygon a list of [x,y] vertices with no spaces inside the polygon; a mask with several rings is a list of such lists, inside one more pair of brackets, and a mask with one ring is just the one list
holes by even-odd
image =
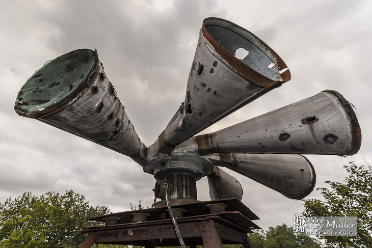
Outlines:
{"label": "low green treetops between the rusty stand and the right-hand tree", "polygon": [[321,248],[316,239],[297,235],[285,224],[249,234],[254,248]]}

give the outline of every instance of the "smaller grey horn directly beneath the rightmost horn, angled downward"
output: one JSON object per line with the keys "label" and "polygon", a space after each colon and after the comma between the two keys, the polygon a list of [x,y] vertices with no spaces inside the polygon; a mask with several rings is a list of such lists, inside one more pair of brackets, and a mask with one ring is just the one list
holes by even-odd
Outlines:
{"label": "smaller grey horn directly beneath the rightmost horn, angled downward", "polygon": [[301,155],[214,153],[206,157],[291,199],[303,199],[315,186],[314,168]]}

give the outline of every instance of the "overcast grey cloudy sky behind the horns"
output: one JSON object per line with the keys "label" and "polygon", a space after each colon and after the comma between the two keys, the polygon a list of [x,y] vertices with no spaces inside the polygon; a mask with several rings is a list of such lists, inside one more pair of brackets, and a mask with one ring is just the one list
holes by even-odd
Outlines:
{"label": "overcast grey cloudy sky behind the horns", "polygon": [[[239,109],[208,133],[313,96],[340,92],[356,107],[362,146],[352,157],[307,155],[325,180],[342,181],[349,161],[372,164],[370,58],[372,2],[364,1],[3,1],[0,9],[0,202],[73,189],[113,212],[153,203],[155,179],[128,157],[37,120],[19,117],[21,86],[45,62],[97,49],[105,72],[145,145],[151,145],[184,99],[202,21],[220,17],[249,30],[287,64],[292,79]],[[228,171],[226,169],[226,171]],[[292,226],[301,201],[228,171],[243,203],[267,229]],[[209,200],[206,178],[198,199]],[[314,190],[308,198],[321,198]]]}

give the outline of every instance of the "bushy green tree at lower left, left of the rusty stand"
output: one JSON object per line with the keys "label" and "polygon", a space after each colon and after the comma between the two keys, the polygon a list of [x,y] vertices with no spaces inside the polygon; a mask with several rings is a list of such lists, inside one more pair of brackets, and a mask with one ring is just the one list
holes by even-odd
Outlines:
{"label": "bushy green tree at lower left, left of the rusty stand", "polygon": [[79,247],[86,234],[78,231],[97,225],[86,218],[107,213],[107,207],[92,207],[72,190],[40,197],[25,192],[0,203],[0,247]]}

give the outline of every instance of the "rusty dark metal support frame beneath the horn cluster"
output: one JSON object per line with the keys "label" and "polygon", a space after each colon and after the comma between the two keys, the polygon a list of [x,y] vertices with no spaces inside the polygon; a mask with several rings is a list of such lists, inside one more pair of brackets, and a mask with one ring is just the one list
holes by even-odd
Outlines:
{"label": "rusty dark metal support frame beneath the horn cluster", "polygon": [[[200,212],[205,213],[205,211],[208,211],[206,205],[214,202],[221,201],[194,203],[177,207],[182,206],[182,208],[186,209],[185,213],[188,212],[188,209],[192,208],[204,209]],[[250,215],[252,217],[255,215],[252,212],[247,214],[250,210],[237,199],[225,200],[224,203],[227,205],[227,210],[229,210],[229,208],[241,208],[244,215],[237,211],[225,211],[202,215],[194,215],[191,213],[193,216],[176,218],[185,245],[190,245],[190,247],[204,245],[205,248],[222,248],[223,244],[241,243],[244,248],[253,247],[247,233],[251,233],[253,229],[259,227],[251,222],[247,216]],[[205,208],[201,208],[201,206]],[[247,209],[249,211],[245,211]],[[157,208],[137,210],[137,212],[138,211],[147,211],[151,216],[160,215],[165,210],[164,208]],[[134,211],[110,214],[110,217],[113,215],[131,215],[132,212]],[[95,220],[99,221],[104,218],[105,216],[100,216],[96,217]],[[145,246],[146,248],[179,245],[170,218],[136,223],[130,222],[116,225],[95,226],[86,228],[81,232],[88,233],[81,248],[88,248],[93,243],[139,245]]]}

